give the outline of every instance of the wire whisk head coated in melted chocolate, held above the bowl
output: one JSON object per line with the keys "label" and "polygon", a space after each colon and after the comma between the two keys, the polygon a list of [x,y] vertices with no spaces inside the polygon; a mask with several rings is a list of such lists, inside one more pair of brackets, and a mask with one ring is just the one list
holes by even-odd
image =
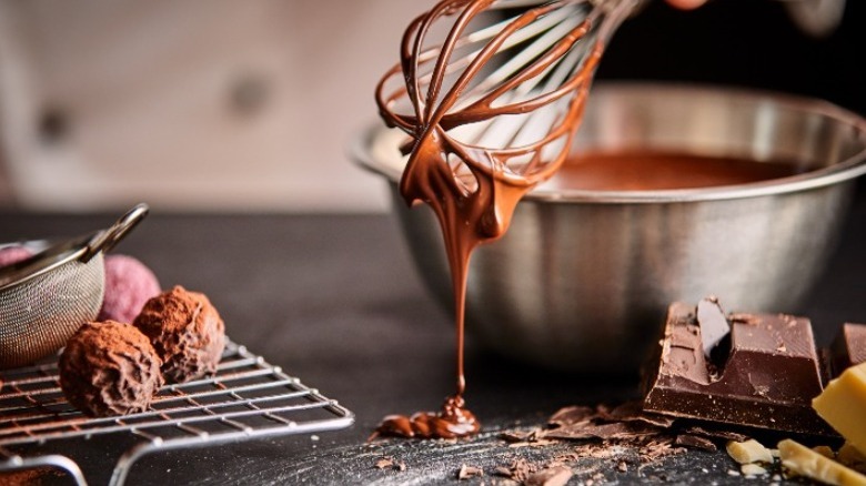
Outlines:
{"label": "wire whisk head coated in melted chocolate, held above the bowl", "polygon": [[453,194],[486,207],[465,214],[482,239],[502,235],[565,160],[603,48],[638,2],[444,0],[416,18],[376,87],[383,119],[410,135],[407,202]]}

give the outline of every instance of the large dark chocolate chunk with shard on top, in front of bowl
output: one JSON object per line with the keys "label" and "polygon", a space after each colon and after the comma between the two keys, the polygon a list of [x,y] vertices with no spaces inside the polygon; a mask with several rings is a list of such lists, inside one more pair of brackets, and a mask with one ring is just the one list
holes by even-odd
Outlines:
{"label": "large dark chocolate chunk with shard on top, in front of bowl", "polygon": [[644,381],[644,409],[674,417],[835,435],[812,409],[823,388],[812,326],[785,314],[731,320],[729,352],[718,369],[704,355],[693,305],[668,308],[654,369]]}

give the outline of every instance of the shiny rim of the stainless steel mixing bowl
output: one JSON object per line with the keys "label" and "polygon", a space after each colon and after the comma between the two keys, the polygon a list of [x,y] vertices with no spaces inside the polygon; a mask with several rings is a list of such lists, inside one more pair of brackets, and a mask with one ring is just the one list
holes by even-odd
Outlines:
{"label": "shiny rim of the stainless steel mixing bowl", "polygon": [[[856,130],[858,135],[866,140],[866,119],[853,111],[816,98],[771,90],[683,82],[602,81],[597,82],[593,90],[653,90],[656,92],[676,91],[678,93],[688,91],[689,95],[712,93],[713,95],[723,95],[731,98],[732,100],[752,103],[759,102],[761,100],[772,100],[774,103],[793,110],[807,111],[834,119],[842,124]],[[391,182],[397,182],[402,178],[402,170],[376,160],[371,150],[376,138],[389,130],[394,129],[386,128],[381,121],[369,122],[350,140],[349,154],[362,169],[384,175]],[[524,201],[540,201],[546,203],[582,202],[602,204],[732,200],[807,191],[854,180],[863,174],[866,174],[866,144],[863,150],[833,165],[768,181],[725,186],[652,191],[552,190],[536,188],[528,192],[523,199]]]}

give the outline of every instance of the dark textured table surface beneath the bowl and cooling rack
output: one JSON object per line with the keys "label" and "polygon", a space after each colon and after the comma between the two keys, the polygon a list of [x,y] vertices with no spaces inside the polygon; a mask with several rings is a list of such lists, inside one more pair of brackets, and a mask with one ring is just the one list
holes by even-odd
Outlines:
{"label": "dark textured table surface beneath the bowl and cooling rack", "polygon": [[[0,213],[0,241],[80,234],[113,217],[7,211]],[[804,303],[804,313],[822,330],[819,342],[844,321],[866,322],[865,249],[866,193],[860,190],[839,247]],[[636,393],[630,379],[537,373],[485,353],[470,340],[466,397],[486,433],[456,443],[366,444],[384,414],[434,408],[453,388],[451,316],[421,286],[391,216],[154,211],[115,252],[145,262],[163,286],[207,293],[234,341],[356,414],[352,427],[315,437],[148,456],[134,466],[132,484],[427,484],[456,482],[461,464],[482,467],[486,475],[473,480],[490,483],[493,469],[515,457],[542,460],[570,447],[507,447],[495,438],[497,431],[543,424],[561,406],[616,402]],[[117,450],[102,452],[84,441],[81,448],[84,473],[92,484],[104,484]],[[406,469],[376,468],[383,456],[402,460]],[[573,465],[578,470],[573,482],[598,470],[604,480],[618,483],[739,479],[728,476],[735,466],[723,453],[689,452],[625,473],[605,467]]]}

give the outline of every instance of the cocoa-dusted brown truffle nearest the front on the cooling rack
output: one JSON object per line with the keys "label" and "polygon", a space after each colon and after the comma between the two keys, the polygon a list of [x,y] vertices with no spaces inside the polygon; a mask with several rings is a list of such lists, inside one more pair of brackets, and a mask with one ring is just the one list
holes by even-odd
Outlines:
{"label": "cocoa-dusted brown truffle nearest the front on the cooling rack", "polygon": [[87,415],[143,412],[163,379],[157,351],[139,330],[114,321],[90,322],[60,356],[60,388]]}

